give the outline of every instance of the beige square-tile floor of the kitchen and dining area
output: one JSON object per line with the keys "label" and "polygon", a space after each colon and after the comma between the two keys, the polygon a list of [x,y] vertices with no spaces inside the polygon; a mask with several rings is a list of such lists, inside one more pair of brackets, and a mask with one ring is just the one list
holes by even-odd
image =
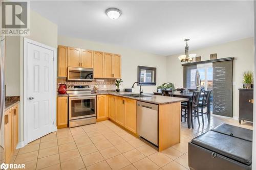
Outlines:
{"label": "beige square-tile floor of the kitchen and dining area", "polygon": [[[200,119],[201,120],[201,119]],[[206,120],[206,117],[205,117]],[[14,163],[26,169],[188,169],[187,143],[194,137],[227,123],[252,129],[252,124],[212,116],[194,129],[181,123],[181,142],[157,152],[141,140],[106,120],[93,125],[59,129],[16,150]]]}

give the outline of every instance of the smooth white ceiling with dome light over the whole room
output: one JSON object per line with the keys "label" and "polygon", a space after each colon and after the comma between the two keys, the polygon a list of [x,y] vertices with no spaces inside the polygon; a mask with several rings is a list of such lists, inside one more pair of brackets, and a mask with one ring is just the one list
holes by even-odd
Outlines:
{"label": "smooth white ceiling with dome light over the whole room", "polygon": [[[112,20],[110,7],[122,15]],[[32,1],[58,34],[159,55],[252,37],[253,1]]]}

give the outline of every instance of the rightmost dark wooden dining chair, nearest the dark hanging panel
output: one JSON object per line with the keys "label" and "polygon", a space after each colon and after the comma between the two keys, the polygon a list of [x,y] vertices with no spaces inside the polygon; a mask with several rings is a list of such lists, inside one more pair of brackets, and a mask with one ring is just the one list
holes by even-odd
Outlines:
{"label": "rightmost dark wooden dining chair, nearest the dark hanging panel", "polygon": [[[210,93],[211,90],[205,90],[203,93],[202,101],[199,101],[199,107],[201,108],[202,121],[204,125],[204,114],[207,115],[208,122],[210,122]],[[206,108],[206,112],[204,112],[204,108]]]}

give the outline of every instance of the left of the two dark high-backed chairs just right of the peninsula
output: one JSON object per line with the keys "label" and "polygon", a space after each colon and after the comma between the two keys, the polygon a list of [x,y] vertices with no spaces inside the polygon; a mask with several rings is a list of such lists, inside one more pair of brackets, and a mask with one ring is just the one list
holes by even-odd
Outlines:
{"label": "left of the two dark high-backed chairs just right of the peninsula", "polygon": [[[197,117],[197,120],[198,120],[198,124],[200,126],[200,120],[199,120],[199,99],[200,99],[200,95],[201,95],[201,91],[193,91],[193,96],[192,96],[192,100],[191,101],[188,101],[188,102],[191,102],[191,117],[190,117],[190,120],[188,121],[191,121],[191,127],[194,128],[194,125],[193,125],[193,117]],[[183,114],[183,109],[184,109],[184,112],[185,114]],[[193,113],[194,111],[194,113]],[[186,122],[186,119],[187,119],[187,113],[188,113],[188,103],[182,103],[181,104],[181,121],[182,121],[182,117],[184,117],[185,119],[185,122]]]}

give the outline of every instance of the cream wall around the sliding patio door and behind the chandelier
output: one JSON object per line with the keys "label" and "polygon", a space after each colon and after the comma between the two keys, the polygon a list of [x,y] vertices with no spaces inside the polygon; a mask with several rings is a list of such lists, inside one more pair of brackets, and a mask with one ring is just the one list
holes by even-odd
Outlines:
{"label": "cream wall around the sliding patio door and behind the chandelier", "polygon": [[[191,44],[193,45],[193,44]],[[217,53],[217,58],[234,57],[233,61],[233,117],[239,115],[239,91],[243,86],[242,74],[244,71],[253,71],[254,59],[253,37],[232,41],[220,45],[210,46],[189,53],[202,56],[202,61],[209,60],[210,54]],[[167,81],[173,82],[176,87],[183,87],[183,67],[177,55],[167,56]]]}

